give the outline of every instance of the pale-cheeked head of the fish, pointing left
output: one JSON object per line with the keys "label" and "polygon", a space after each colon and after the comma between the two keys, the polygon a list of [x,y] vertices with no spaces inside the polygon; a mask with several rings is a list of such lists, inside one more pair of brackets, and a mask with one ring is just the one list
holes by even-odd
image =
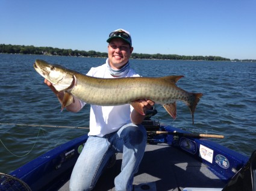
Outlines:
{"label": "pale-cheeked head of the fish, pointing left", "polygon": [[49,64],[46,61],[37,59],[34,68],[41,76],[52,83],[57,91],[64,91],[72,88],[75,84],[75,76],[71,70],[58,64]]}

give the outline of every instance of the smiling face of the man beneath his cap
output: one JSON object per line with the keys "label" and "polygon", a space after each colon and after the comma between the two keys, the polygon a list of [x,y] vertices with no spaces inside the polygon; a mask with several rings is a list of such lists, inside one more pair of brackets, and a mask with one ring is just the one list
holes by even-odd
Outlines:
{"label": "smiling face of the man beneath his cap", "polygon": [[110,66],[119,70],[125,65],[133,52],[133,47],[121,38],[113,38],[108,44],[108,59]]}

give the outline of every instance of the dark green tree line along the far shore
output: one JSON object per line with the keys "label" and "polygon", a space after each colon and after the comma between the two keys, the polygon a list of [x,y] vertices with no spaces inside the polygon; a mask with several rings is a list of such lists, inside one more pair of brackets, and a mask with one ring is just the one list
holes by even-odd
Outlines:
{"label": "dark green tree line along the far shore", "polygon": [[[72,49],[58,49],[54,47],[35,47],[24,45],[0,44],[0,53],[20,53],[33,55],[58,55],[58,56],[84,56],[84,57],[101,57],[107,58],[107,52],[96,52],[95,50],[72,50]],[[147,53],[132,53],[133,59],[182,59],[182,60],[204,60],[204,61],[230,61],[229,58],[222,58],[220,56],[184,56],[184,55],[163,55],[147,54]],[[256,60],[239,60],[235,61],[256,61]]]}

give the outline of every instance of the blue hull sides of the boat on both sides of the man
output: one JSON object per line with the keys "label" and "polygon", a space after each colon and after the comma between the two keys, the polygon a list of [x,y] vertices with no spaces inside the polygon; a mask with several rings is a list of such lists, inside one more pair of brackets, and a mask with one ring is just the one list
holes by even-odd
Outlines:
{"label": "blue hull sides of the boat on both sides of the man", "polygon": [[[160,127],[160,130],[189,133],[172,126]],[[60,145],[21,166],[11,172],[10,175],[27,183],[31,190],[58,190],[69,180],[73,166],[87,138],[88,136],[84,135]],[[178,150],[204,163],[211,172],[225,183],[248,161],[248,157],[208,139],[155,135],[151,144],[159,143],[172,145],[172,147],[178,148]]]}

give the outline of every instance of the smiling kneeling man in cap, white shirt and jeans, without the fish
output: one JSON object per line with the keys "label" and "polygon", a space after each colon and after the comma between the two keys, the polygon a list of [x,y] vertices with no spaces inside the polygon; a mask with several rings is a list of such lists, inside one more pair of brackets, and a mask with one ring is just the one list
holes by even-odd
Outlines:
{"label": "smiling kneeling man in cap, white shirt and jeans, without the fish", "polygon": [[[93,77],[115,78],[139,76],[130,68],[129,58],[133,52],[131,35],[124,29],[110,33],[108,59],[105,64],[91,68],[87,73]],[[57,92],[45,79],[45,83],[63,99],[63,92]],[[86,103],[73,98],[67,111],[78,112]],[[143,109],[150,109],[154,102],[137,100]],[[145,116],[130,105],[95,106],[90,109],[89,138],[73,168],[70,190],[92,190],[103,169],[114,153],[123,153],[121,172],[114,179],[116,190],[132,190],[133,177],[139,168],[146,147],[146,130],[139,125]]]}

